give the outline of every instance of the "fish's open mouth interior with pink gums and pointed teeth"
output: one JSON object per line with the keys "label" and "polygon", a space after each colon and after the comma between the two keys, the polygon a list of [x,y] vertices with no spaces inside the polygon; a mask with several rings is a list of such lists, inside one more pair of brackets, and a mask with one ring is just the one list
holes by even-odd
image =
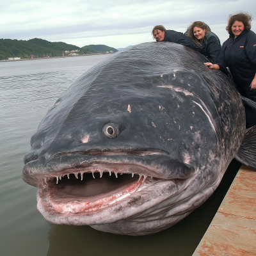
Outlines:
{"label": "fish's open mouth interior with pink gums and pointed teeth", "polygon": [[134,173],[67,173],[50,179],[42,189],[52,210],[59,213],[88,213],[116,204],[138,191],[150,178]]}

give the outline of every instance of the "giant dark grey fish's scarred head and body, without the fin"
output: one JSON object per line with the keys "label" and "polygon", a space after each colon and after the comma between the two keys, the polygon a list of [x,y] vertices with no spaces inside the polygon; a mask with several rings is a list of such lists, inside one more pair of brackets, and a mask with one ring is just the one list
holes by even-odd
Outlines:
{"label": "giant dark grey fish's scarred head and body, without the fin", "polygon": [[44,218],[140,236],[205,202],[239,150],[245,114],[232,81],[204,62],[188,47],[152,42],[79,77],[24,157],[22,179],[39,188]]}

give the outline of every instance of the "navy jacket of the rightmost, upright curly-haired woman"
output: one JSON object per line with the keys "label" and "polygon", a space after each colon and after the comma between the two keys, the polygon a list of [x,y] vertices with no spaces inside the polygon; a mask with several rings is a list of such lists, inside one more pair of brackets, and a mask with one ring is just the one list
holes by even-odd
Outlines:
{"label": "navy jacket of the rightmost, upright curly-haired woman", "polygon": [[216,64],[221,70],[230,69],[238,87],[250,86],[256,72],[256,34],[244,30],[236,39],[230,35],[222,45]]}

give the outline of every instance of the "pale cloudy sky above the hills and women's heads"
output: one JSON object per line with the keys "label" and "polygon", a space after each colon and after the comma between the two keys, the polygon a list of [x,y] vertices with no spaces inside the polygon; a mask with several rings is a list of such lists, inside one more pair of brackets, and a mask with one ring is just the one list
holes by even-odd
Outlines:
{"label": "pale cloudy sky above the hills and women's heads", "polygon": [[[228,38],[228,15],[248,12],[256,19],[255,0],[0,1],[0,38],[42,38],[79,47],[152,42],[154,26],[184,33],[195,20],[208,24],[222,44]],[[252,31],[256,33],[254,19]]]}

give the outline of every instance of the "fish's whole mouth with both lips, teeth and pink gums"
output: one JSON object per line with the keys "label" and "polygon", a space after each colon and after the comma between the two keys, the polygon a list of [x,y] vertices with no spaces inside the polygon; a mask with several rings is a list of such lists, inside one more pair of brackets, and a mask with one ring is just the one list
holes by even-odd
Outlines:
{"label": "fish's whole mouth with both lips, teeth and pink gums", "polygon": [[[45,174],[37,173],[34,177],[29,177],[29,172],[25,168],[22,179],[30,184],[34,182],[31,182],[31,179],[36,180],[36,186],[39,188],[37,207],[46,220],[56,224],[99,225],[123,219],[125,216],[128,218],[132,214],[147,209],[145,202],[148,202],[148,198],[163,197],[163,191],[166,191],[166,188],[172,186],[174,189],[177,188],[178,183],[187,183],[186,181],[195,173],[194,168],[189,168],[190,171],[184,177],[173,175],[166,179],[161,177],[161,173],[157,174],[152,170],[156,168],[154,164],[141,164],[134,161],[134,157],[136,159],[159,157],[159,155],[168,157],[163,152],[133,152],[135,156],[128,156],[132,157],[132,160],[126,163],[122,159],[116,161],[116,157],[124,157],[127,152],[120,152],[118,156],[113,156],[113,152],[99,153],[101,155],[96,152],[91,152],[90,155],[87,152],[84,155],[78,152],[58,154],[55,156],[57,159],[63,156],[93,157],[93,163],[84,166],[84,161],[80,159],[79,165]],[[98,161],[95,161],[95,156],[99,158]],[[36,161],[38,159],[31,162]],[[176,165],[175,168],[183,167],[182,163],[177,161],[172,161],[172,164]],[[35,186],[35,183],[33,185]],[[154,193],[157,191],[156,196],[152,192],[147,192],[149,187],[150,191]],[[159,189],[163,191],[158,193]],[[143,199],[141,195],[146,196]],[[163,198],[156,200],[155,204],[161,200]],[[150,204],[154,204],[153,201]],[[138,204],[138,207],[131,211],[132,204]],[[122,214],[120,214],[121,210],[120,212],[116,210],[120,208],[123,209]],[[124,209],[127,210],[124,211]]]}

